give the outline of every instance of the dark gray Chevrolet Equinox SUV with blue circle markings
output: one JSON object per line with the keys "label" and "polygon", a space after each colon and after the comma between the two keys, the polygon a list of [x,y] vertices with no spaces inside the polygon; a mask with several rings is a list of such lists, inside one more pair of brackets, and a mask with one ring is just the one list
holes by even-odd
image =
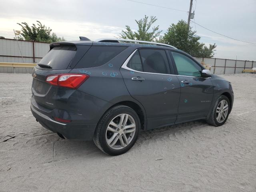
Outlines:
{"label": "dark gray Chevrolet Equinox SUV with blue circle markings", "polygon": [[110,155],[128,151],[140,130],[199,119],[221,126],[234,101],[230,82],[156,42],[52,43],[32,76],[36,120],[62,138],[94,140]]}

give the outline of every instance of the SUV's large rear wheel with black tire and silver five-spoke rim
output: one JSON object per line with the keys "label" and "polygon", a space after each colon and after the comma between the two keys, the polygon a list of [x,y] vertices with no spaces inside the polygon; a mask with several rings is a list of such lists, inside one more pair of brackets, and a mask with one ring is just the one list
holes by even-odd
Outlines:
{"label": "SUV's large rear wheel with black tire and silver five-spoke rim", "polygon": [[[120,123],[121,121],[123,123]],[[138,114],[128,106],[119,105],[110,108],[102,116],[94,132],[93,140],[104,153],[115,156],[130,150],[136,142],[139,132]],[[114,144],[114,142],[116,143]]]}

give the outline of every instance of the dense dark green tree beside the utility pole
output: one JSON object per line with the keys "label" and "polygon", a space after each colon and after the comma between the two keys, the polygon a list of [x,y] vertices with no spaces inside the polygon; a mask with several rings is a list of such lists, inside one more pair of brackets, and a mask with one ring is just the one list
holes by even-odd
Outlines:
{"label": "dense dark green tree beside the utility pole", "polygon": [[210,44],[208,48],[204,43],[199,42],[200,38],[196,35],[196,31],[192,31],[191,27],[188,28],[184,20],[180,20],[177,24],[172,24],[160,40],[195,57],[213,57],[216,45]]}

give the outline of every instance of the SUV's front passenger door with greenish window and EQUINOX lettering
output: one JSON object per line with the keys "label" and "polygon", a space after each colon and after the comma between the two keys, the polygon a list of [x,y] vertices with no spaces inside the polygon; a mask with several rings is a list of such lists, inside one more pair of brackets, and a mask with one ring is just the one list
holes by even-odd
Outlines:
{"label": "SUV's front passenger door with greenish window and EQUINOX lettering", "polygon": [[210,78],[201,77],[202,66],[185,54],[168,51],[180,81],[180,102],[176,123],[205,118],[213,98]]}

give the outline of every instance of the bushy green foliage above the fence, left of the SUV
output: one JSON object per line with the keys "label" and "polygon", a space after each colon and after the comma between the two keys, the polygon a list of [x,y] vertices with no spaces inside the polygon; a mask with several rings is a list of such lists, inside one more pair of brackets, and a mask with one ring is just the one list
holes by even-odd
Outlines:
{"label": "bushy green foliage above the fence, left of the SUV", "polygon": [[36,21],[37,24],[32,24],[32,26],[28,26],[26,22],[17,23],[21,26],[21,36],[18,36],[18,40],[34,40],[38,42],[58,42],[65,41],[62,37],[58,37],[55,33],[52,33],[52,29],[47,28],[45,25],[42,25],[40,21]]}

